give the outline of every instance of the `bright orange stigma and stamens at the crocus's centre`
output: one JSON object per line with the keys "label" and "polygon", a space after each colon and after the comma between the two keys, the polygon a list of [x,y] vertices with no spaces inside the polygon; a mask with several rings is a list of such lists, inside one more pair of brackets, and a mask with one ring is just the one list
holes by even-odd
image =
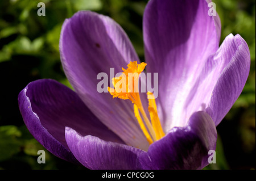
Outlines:
{"label": "bright orange stigma and stamens at the crocus's centre", "polygon": [[165,134],[160,124],[155,97],[152,92],[147,92],[150,120],[144,111],[141,98],[139,96],[139,74],[142,73],[146,65],[147,64],[144,62],[141,64],[137,64],[137,61],[130,62],[127,65],[127,69],[122,68],[122,75],[112,79],[114,89],[108,87],[108,91],[111,95],[113,95],[113,98],[129,99],[134,104],[134,115],[137,118],[144,136],[147,138],[147,141],[149,144],[152,144],[153,142],[160,140],[160,138],[162,138]]}

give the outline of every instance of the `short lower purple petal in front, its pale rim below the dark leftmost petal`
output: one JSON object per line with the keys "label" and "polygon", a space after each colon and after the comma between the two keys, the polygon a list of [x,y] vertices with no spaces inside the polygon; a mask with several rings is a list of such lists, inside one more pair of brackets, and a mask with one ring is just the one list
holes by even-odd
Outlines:
{"label": "short lower purple petal in front, its pale rim below the dark leftmost petal", "polygon": [[85,136],[66,128],[66,141],[72,153],[89,169],[137,169],[138,154],[144,152],[132,146]]}

